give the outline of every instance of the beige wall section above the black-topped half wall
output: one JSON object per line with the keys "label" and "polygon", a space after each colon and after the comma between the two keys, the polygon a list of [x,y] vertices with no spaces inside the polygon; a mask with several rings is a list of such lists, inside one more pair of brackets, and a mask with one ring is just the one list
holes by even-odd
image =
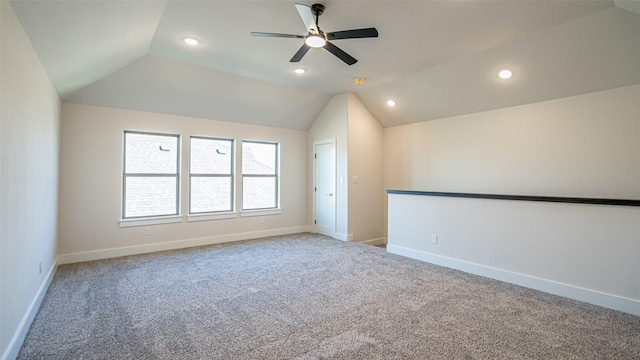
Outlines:
{"label": "beige wall section above the black-topped half wall", "polygon": [[640,85],[385,129],[388,189],[640,199]]}

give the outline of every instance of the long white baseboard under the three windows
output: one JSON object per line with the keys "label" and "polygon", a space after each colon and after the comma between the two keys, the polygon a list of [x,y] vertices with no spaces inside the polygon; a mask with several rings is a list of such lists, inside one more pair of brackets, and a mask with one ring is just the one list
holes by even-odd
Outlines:
{"label": "long white baseboard under the three windows", "polygon": [[137,254],[145,254],[156,251],[175,250],[188,248],[193,246],[213,245],[226,242],[258,239],[268,236],[289,235],[301,232],[309,232],[309,226],[295,226],[290,228],[280,228],[262,231],[253,231],[240,234],[227,234],[208,236],[203,238],[184,239],[167,241],[162,243],[126,246],[104,250],[85,251],[72,254],[62,254],[58,256],[58,264],[71,264],[82,261],[92,261],[100,259],[109,259],[119,256],[129,256]]}

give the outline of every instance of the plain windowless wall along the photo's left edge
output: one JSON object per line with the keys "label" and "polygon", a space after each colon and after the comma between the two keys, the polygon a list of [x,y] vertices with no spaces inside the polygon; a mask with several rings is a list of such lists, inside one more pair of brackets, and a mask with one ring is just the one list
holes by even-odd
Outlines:
{"label": "plain windowless wall along the photo's left edge", "polygon": [[0,12],[0,358],[5,359],[17,355],[54,270],[60,100],[8,1],[1,2]]}

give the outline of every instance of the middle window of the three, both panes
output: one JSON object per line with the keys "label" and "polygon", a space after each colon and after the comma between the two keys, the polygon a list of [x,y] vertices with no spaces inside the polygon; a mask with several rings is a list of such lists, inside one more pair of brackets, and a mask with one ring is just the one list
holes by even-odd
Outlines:
{"label": "middle window of the three, both panes", "polygon": [[233,211],[231,139],[191,137],[189,213]]}

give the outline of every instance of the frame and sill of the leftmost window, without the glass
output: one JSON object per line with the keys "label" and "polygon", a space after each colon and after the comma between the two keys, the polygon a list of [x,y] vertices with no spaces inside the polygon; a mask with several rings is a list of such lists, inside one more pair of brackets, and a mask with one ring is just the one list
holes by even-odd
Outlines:
{"label": "frame and sill of the leftmost window, without the glass", "polygon": [[[163,137],[175,137],[176,138],[176,163],[175,163],[175,173],[127,173],[127,134],[139,134],[139,135],[151,135],[151,136],[163,136]],[[120,227],[128,227],[128,226],[142,226],[142,225],[152,225],[152,224],[161,224],[161,223],[171,223],[171,222],[181,222],[181,193],[180,193],[180,184],[181,184],[181,148],[182,148],[182,136],[181,134],[175,133],[161,133],[155,131],[140,131],[140,130],[124,130],[122,133],[122,178],[121,178],[121,206],[120,206]],[[126,216],[126,205],[127,205],[127,178],[175,178],[176,189],[175,189],[175,212],[172,214],[162,214],[162,215],[144,215],[144,216]]]}

